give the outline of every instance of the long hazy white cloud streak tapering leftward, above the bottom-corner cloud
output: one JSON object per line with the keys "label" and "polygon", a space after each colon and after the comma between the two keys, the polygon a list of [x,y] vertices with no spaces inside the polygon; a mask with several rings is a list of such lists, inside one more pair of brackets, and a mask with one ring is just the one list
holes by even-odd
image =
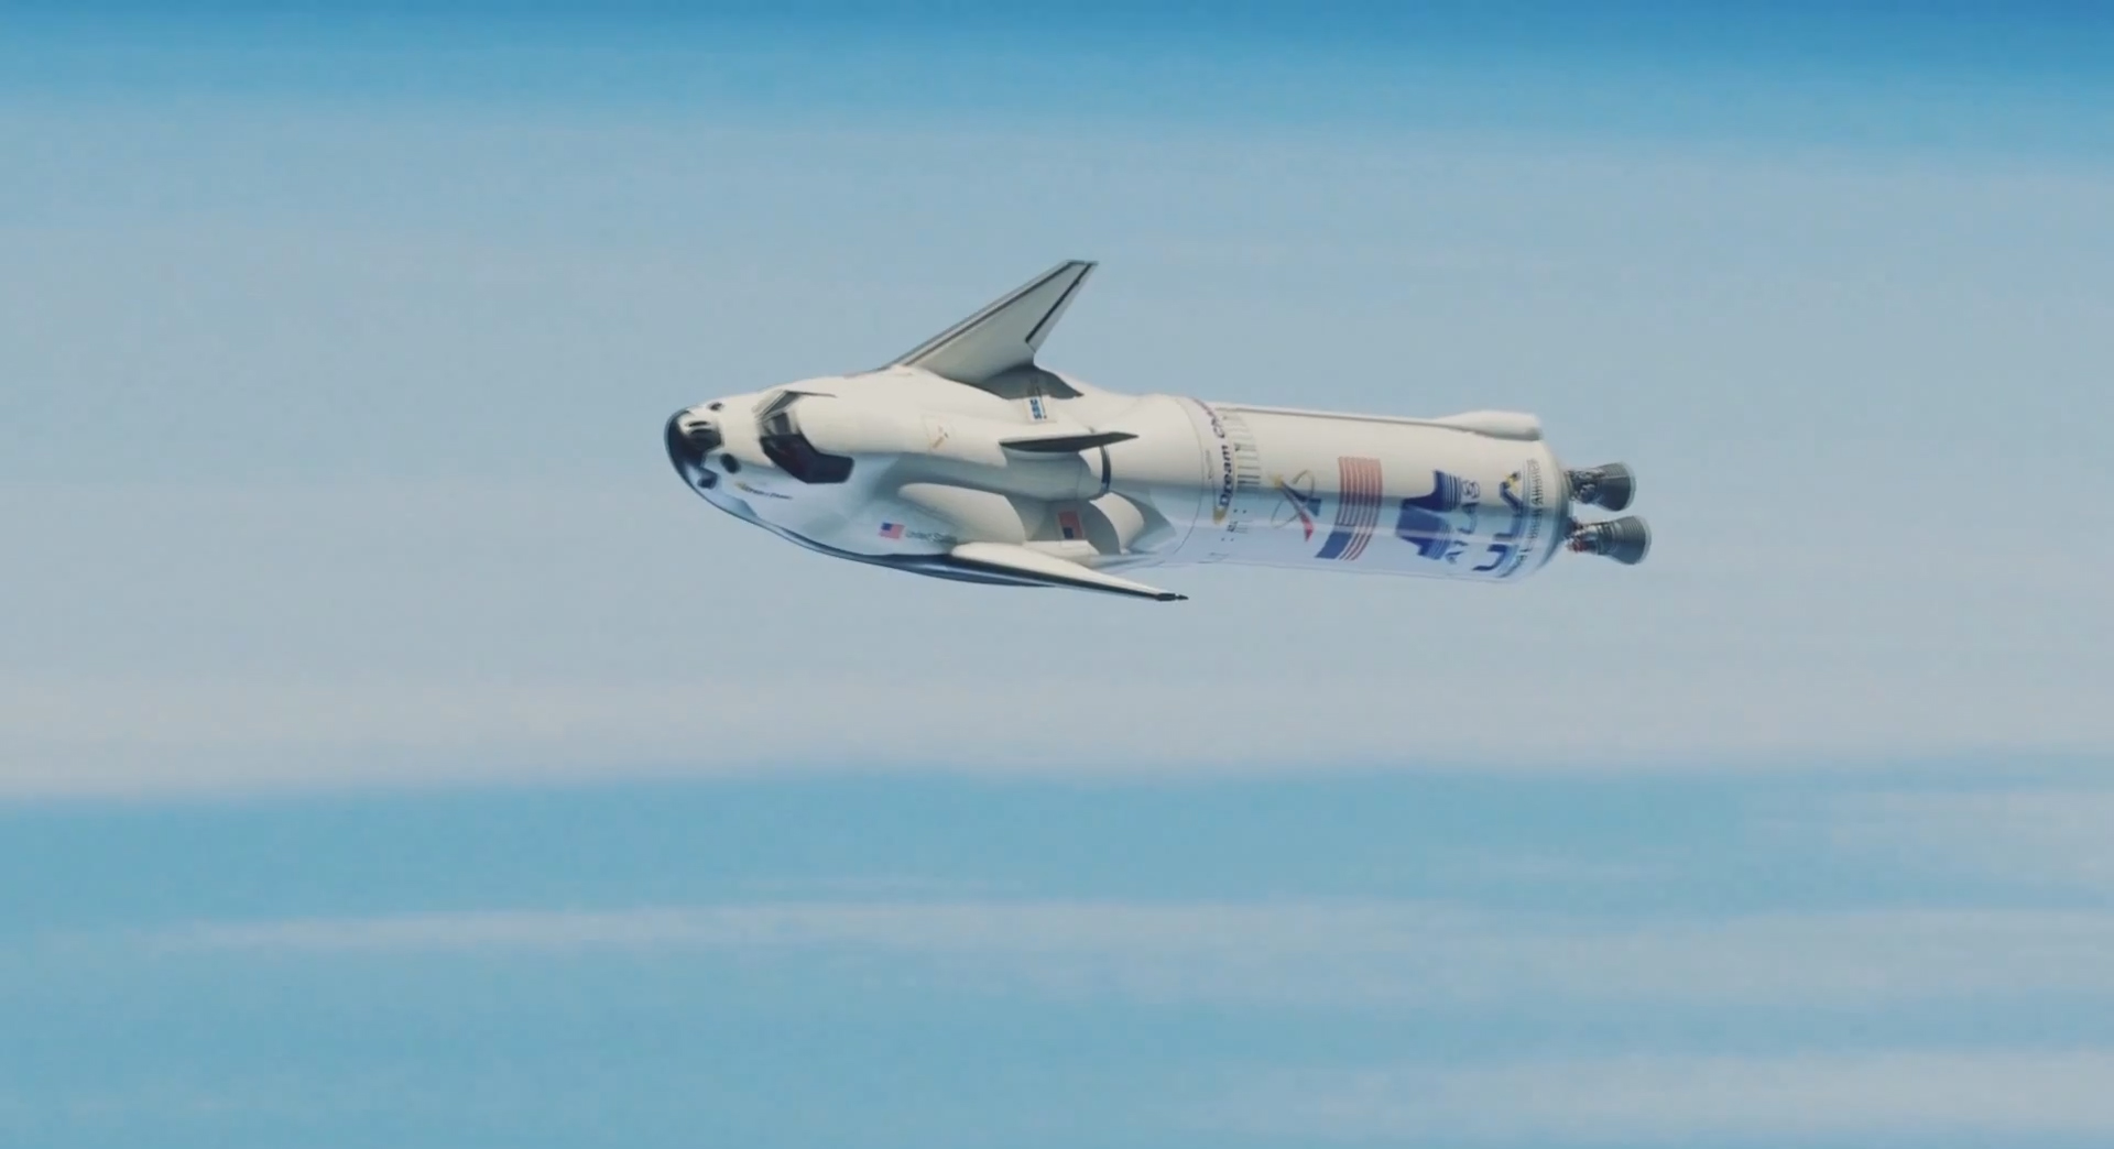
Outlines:
{"label": "long hazy white cloud streak tapering leftward, above the bottom-corner cloud", "polygon": [[199,923],[146,944],[290,955],[863,953],[949,982],[1152,1001],[2114,997],[2114,915],[2027,910],[1611,925],[1399,902],[767,902]]}

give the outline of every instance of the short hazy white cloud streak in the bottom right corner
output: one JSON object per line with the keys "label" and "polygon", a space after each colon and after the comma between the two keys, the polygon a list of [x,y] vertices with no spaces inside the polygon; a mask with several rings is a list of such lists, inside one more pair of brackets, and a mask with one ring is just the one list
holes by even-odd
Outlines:
{"label": "short hazy white cloud streak in the bottom right corner", "polygon": [[1981,1145],[2114,1136],[2108,1081],[2099,1048],[1408,1065],[1256,1081],[1194,1119],[1383,1145]]}

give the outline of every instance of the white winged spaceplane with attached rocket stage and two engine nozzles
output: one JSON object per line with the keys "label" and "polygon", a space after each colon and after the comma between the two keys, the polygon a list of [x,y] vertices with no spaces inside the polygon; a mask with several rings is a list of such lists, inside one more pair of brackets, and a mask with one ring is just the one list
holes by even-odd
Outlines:
{"label": "white winged spaceplane with attached rocket stage and two engine nozzles", "polygon": [[1566,471],[1526,414],[1397,418],[1118,395],[1034,357],[1065,262],[875,372],[668,418],[715,507],[810,549],[977,583],[1184,596],[1125,574],[1203,562],[1514,581],[1558,549],[1638,562],[1621,465]]}

